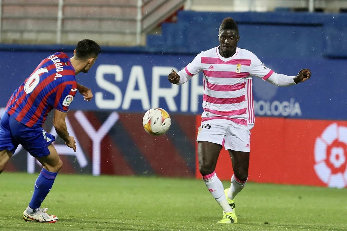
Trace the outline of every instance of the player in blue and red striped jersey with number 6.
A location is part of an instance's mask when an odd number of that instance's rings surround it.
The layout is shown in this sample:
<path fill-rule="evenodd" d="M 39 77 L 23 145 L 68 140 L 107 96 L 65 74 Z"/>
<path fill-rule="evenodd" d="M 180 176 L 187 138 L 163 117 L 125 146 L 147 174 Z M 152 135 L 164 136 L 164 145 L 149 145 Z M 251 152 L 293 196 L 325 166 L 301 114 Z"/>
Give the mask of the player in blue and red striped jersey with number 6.
<path fill-rule="evenodd" d="M 76 151 L 75 138 L 67 131 L 65 117 L 77 90 L 85 100 L 92 99 L 91 89 L 79 85 L 75 75 L 87 73 L 99 53 L 100 46 L 96 42 L 82 39 L 71 59 L 62 52 L 48 56 L 15 90 L 7 103 L 0 121 L 0 173 L 19 144 L 43 166 L 35 181 L 31 201 L 23 213 L 25 221 L 54 223 L 58 220 L 57 216 L 46 213 L 47 208 L 41 209 L 41 203 L 63 164 L 52 144 L 56 138 L 47 133 L 42 125 L 47 114 L 55 109 L 54 128 L 66 145 Z"/>

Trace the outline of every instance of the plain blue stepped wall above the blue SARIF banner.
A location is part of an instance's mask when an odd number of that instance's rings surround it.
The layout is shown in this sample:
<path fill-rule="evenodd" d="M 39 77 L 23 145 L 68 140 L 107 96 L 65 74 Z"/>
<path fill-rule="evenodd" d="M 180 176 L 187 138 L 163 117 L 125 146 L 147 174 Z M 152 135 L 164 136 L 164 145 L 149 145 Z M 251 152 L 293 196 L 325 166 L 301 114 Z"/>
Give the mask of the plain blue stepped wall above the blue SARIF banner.
<path fill-rule="evenodd" d="M 218 28 L 226 17 L 238 24 L 239 47 L 259 57 L 347 57 L 347 14 L 180 11 L 177 23 L 162 25 L 162 35 L 147 36 L 147 46 L 173 52 L 208 50 L 218 45 Z"/>

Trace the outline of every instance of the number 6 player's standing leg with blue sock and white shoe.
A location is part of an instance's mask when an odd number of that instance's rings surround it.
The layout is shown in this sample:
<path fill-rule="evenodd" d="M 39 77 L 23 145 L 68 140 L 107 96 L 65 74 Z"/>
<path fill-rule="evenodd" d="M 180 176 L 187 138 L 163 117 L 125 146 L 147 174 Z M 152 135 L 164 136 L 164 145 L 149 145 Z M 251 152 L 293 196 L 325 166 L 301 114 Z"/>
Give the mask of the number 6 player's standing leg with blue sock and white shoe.
<path fill-rule="evenodd" d="M 46 213 L 46 209 L 40 208 L 41 203 L 52 189 L 58 171 L 62 167 L 62 161 L 52 144 L 48 146 L 48 150 L 50 151 L 48 156 L 37 158 L 43 168 L 39 177 L 35 181 L 34 194 L 29 206 L 23 213 L 23 219 L 25 221 L 54 223 L 58 220 L 58 217 L 49 215 Z"/>

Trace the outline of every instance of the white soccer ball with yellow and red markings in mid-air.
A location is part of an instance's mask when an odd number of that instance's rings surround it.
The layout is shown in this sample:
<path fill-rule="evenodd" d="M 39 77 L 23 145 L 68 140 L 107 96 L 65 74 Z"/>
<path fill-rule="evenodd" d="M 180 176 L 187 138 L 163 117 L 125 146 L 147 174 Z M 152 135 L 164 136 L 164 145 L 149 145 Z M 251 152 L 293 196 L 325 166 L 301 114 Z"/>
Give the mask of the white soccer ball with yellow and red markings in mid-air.
<path fill-rule="evenodd" d="M 142 125 L 147 133 L 162 135 L 169 130 L 171 119 L 166 110 L 162 108 L 151 108 L 143 116 Z"/>

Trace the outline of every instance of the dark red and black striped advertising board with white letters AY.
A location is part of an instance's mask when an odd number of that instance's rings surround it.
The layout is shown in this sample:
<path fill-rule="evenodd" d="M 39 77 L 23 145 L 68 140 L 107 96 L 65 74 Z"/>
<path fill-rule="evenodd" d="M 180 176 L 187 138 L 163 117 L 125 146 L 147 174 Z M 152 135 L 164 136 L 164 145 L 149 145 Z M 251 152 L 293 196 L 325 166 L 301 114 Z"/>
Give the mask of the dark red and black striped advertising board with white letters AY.
<path fill-rule="evenodd" d="M 54 130 L 52 115 L 44 128 L 56 136 L 53 143 L 64 162 L 61 172 L 112 175 L 158 175 L 193 177 L 195 174 L 194 115 L 171 115 L 169 132 L 147 134 L 142 114 L 70 111 L 66 122 L 77 150 L 68 148 Z M 22 146 L 7 171 L 40 171 L 41 165 Z"/>

